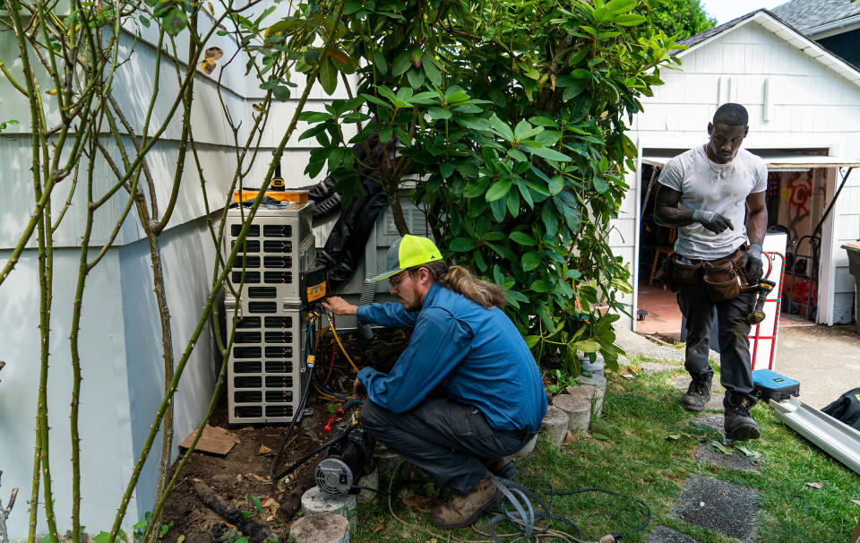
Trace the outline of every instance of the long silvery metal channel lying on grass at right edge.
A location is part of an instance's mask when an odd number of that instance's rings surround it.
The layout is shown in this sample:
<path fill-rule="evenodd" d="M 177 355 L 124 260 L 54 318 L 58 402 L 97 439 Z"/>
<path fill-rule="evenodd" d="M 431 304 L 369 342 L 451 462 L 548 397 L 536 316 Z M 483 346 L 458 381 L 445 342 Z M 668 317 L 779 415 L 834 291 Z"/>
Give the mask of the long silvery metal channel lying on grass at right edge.
<path fill-rule="evenodd" d="M 787 427 L 860 475 L 860 431 L 803 401 L 770 401 L 774 414 Z"/>

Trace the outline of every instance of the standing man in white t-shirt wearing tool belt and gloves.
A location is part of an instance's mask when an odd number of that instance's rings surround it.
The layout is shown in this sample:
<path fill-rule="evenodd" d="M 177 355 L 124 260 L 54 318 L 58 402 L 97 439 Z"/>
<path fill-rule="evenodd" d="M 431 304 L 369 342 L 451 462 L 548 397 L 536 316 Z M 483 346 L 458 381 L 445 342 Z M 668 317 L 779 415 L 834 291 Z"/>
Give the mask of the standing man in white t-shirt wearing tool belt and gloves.
<path fill-rule="evenodd" d="M 714 285 L 706 284 L 703 273 L 726 265 L 732 268 L 726 264 L 731 258 L 742 268 L 747 283 L 755 284 L 763 274 L 768 168 L 761 158 L 741 149 L 749 133 L 748 121 L 746 108 L 740 104 L 720 106 L 708 124 L 709 142 L 676 156 L 663 168 L 654 211 L 659 224 L 678 228 L 672 262 L 681 270 L 674 277 L 682 278 L 676 287 L 678 306 L 686 320 L 684 366 L 692 377 L 682 404 L 685 409 L 701 411 L 710 400 L 709 336 L 716 316 L 720 383 L 726 388 L 726 436 L 735 440 L 759 437 L 759 427 L 750 414 L 756 400 L 751 395 L 750 323 L 746 319 L 755 295 L 744 292 L 720 299 L 724 296 L 714 291 Z"/>

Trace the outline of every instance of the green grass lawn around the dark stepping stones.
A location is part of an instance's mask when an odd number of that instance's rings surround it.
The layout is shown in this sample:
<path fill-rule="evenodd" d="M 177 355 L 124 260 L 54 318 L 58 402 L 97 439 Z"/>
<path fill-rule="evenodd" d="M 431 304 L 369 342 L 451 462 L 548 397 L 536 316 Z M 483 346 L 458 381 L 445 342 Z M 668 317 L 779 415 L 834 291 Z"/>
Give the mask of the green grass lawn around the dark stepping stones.
<path fill-rule="evenodd" d="M 634 369 L 636 362 L 633 362 Z M 561 451 L 538 443 L 537 453 L 515 459 L 520 468 L 520 484 L 546 492 L 600 487 L 636 496 L 648 504 L 651 521 L 645 530 L 624 537 L 624 541 L 647 541 L 656 526 L 667 526 L 692 536 L 701 543 L 735 541 L 717 532 L 703 530 L 672 518 L 671 510 L 690 473 L 719 478 L 752 487 L 760 496 L 760 528 L 756 541 L 797 543 L 841 543 L 848 540 L 860 517 L 860 477 L 813 444 L 783 426 L 769 407 L 760 403 L 753 415 L 761 426 L 761 439 L 747 444 L 761 454 L 759 472 L 715 468 L 693 459 L 699 443 L 696 434 L 707 430 L 692 427 L 688 420 L 696 415 L 681 408 L 680 392 L 668 384 L 671 375 L 638 373 L 634 379 L 608 375 L 603 417 L 592 424 L 591 435 L 578 434 Z M 601 439 L 595 438 L 598 435 Z M 680 435 L 668 439 L 669 435 Z M 821 488 L 806 486 L 819 482 Z M 417 494 L 426 492 L 413 485 Z M 403 485 L 394 482 L 394 511 L 389 513 L 387 482 L 374 504 L 358 511 L 355 541 L 431 541 L 448 540 L 448 534 L 434 530 L 420 513 L 400 500 Z M 553 513 L 574 521 L 584 540 L 597 541 L 610 532 L 632 530 L 645 518 L 640 504 L 617 496 L 580 494 L 556 497 Z M 507 530 L 502 523 L 501 530 Z M 486 520 L 478 530 L 484 530 Z M 562 524 L 556 523 L 560 530 Z M 433 535 L 434 534 L 434 535 Z M 475 530 L 454 530 L 454 540 L 491 540 Z M 512 540 L 512 539 L 506 539 Z M 554 539 L 543 539 L 554 540 Z M 561 540 L 555 538 L 555 540 Z"/>

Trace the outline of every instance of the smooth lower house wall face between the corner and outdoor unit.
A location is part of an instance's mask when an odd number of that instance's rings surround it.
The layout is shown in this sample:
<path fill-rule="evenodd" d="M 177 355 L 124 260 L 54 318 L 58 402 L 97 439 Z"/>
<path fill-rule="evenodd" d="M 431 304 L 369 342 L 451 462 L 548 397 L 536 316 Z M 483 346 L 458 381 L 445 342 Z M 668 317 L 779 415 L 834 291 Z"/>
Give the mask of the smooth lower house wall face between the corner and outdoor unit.
<path fill-rule="evenodd" d="M 125 366 L 128 374 L 128 397 L 136 461 L 159 409 L 164 389 L 164 361 L 161 358 L 159 311 L 152 296 L 152 270 L 147 240 L 142 239 L 118 249 L 122 278 L 122 314 L 125 326 Z M 193 335 L 202 306 L 210 295 L 209 278 L 215 259 L 214 247 L 204 219 L 172 228 L 161 237 L 173 349 L 176 363 Z M 220 368 L 215 340 L 210 328 L 204 328 L 194 346 L 176 392 L 174 417 L 174 457 L 177 444 L 202 420 Z M 161 434 L 153 445 L 150 458 L 137 486 L 138 511 L 151 511 L 159 478 Z"/>

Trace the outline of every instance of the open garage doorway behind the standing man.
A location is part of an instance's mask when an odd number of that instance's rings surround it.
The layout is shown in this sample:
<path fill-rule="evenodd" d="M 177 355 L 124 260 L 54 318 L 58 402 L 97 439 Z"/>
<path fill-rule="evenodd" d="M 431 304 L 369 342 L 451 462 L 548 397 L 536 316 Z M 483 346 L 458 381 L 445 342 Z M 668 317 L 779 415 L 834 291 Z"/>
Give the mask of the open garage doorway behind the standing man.
<path fill-rule="evenodd" d="M 669 342 L 681 336 L 682 319 L 675 294 L 655 274 L 660 263 L 674 251 L 676 228 L 658 225 L 654 201 L 658 177 L 671 157 L 684 150 L 643 151 L 641 168 L 641 215 L 639 218 L 638 295 L 635 303 L 636 331 Z M 783 233 L 787 241 L 782 280 L 780 326 L 820 322 L 821 278 L 829 270 L 822 262 L 824 221 L 830 217 L 854 159 L 826 156 L 824 150 L 751 150 L 768 165 L 769 233 Z M 649 191 L 649 185 L 651 190 Z M 833 197 L 835 194 L 836 197 Z M 830 240 L 824 240 L 830 243 Z M 778 265 L 778 259 L 774 259 Z"/>

